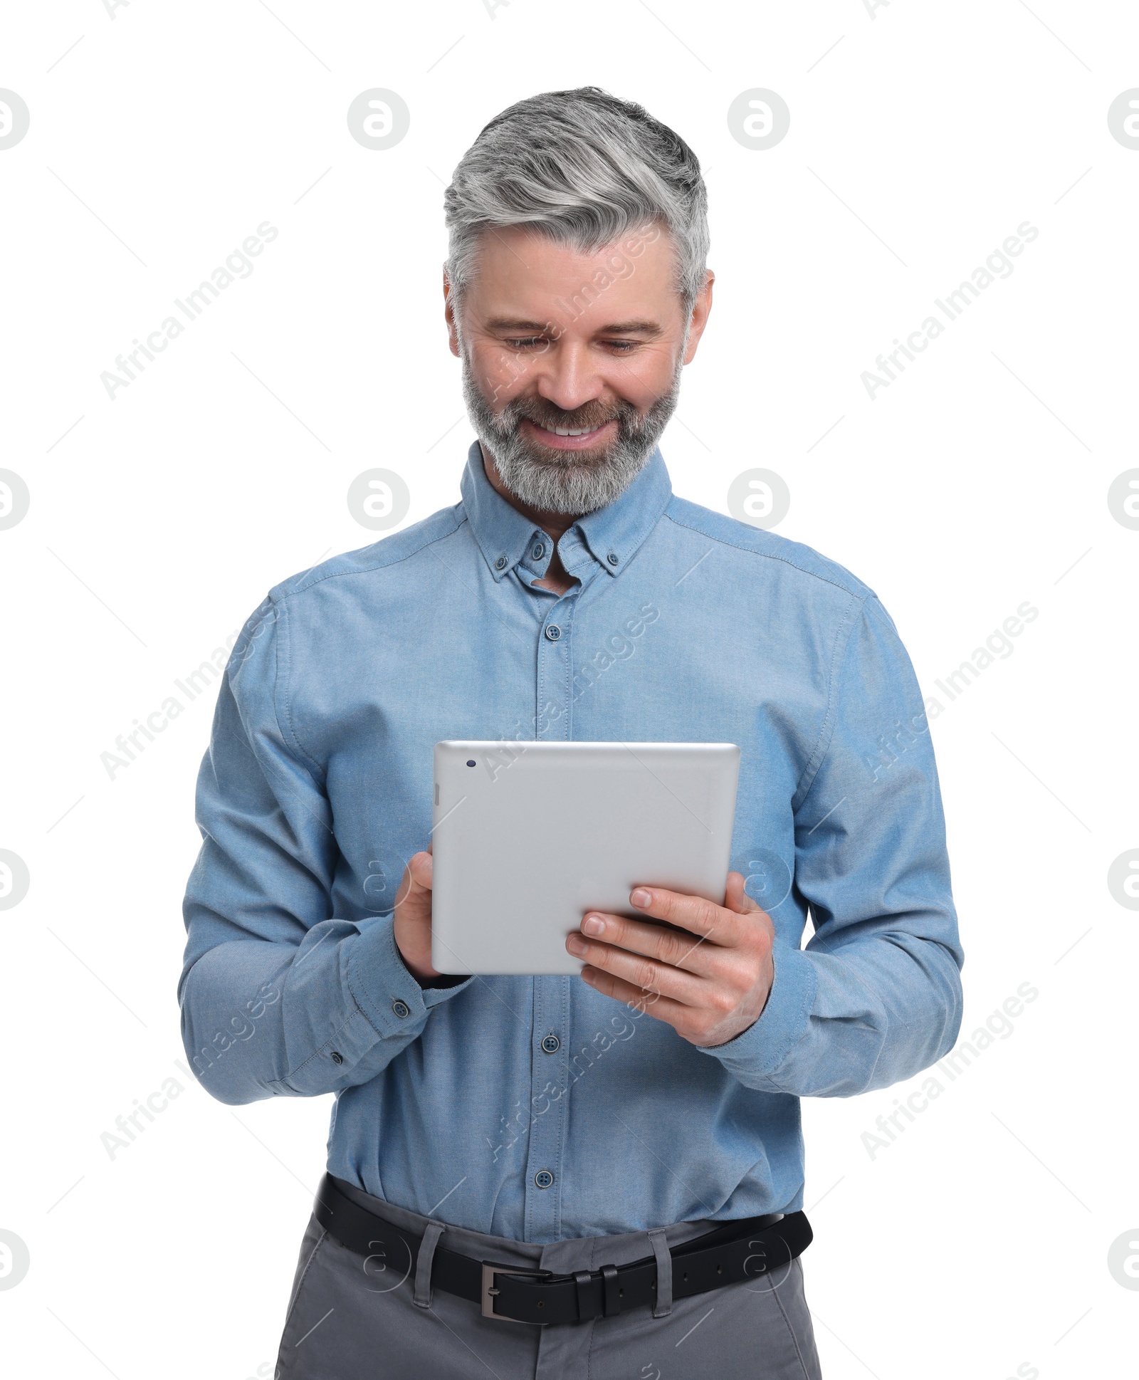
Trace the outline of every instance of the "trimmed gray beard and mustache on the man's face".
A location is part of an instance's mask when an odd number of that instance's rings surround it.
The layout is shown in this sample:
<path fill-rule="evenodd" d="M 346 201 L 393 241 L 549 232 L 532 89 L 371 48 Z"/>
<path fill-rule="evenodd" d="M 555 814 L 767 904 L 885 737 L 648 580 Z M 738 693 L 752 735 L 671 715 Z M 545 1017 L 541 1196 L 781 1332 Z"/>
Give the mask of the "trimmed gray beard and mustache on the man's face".
<path fill-rule="evenodd" d="M 579 518 L 611 504 L 644 469 L 676 411 L 683 360 L 681 349 L 667 393 L 658 397 L 644 417 L 625 402 L 604 417 L 596 407 L 593 415 L 578 417 L 541 397 L 516 397 L 501 413 L 494 413 L 474 381 L 463 351 L 463 400 L 474 433 L 494 457 L 495 468 L 510 493 L 541 512 Z M 586 411 L 589 407 L 578 408 L 578 413 Z M 523 418 L 543 426 L 572 428 L 596 426 L 615 418 L 618 435 L 607 448 L 556 451 L 532 446 L 520 431 Z"/>

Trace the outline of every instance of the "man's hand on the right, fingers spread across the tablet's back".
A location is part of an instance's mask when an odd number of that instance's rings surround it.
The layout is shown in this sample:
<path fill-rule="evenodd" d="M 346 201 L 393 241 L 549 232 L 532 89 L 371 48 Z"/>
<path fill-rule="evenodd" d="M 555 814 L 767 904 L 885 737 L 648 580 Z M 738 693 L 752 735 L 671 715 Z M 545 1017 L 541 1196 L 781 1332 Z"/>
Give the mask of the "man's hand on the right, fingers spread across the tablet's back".
<path fill-rule="evenodd" d="M 582 977 L 605 996 L 647 1010 L 692 1045 L 725 1045 L 763 1014 L 775 977 L 775 926 L 728 874 L 724 904 L 638 886 L 634 909 L 662 925 L 589 911 L 565 948 L 586 960 Z"/>

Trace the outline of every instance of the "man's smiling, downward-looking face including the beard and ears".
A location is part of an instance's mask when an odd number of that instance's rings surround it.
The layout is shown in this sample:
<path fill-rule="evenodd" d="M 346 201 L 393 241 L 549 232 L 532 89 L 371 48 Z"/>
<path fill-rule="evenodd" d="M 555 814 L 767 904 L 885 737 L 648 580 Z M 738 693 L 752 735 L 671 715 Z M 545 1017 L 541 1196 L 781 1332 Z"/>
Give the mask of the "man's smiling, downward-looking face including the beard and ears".
<path fill-rule="evenodd" d="M 552 513 L 603 508 L 640 472 L 696 353 L 712 275 L 685 319 L 656 226 L 594 254 L 525 229 L 484 232 L 451 351 L 505 486 Z"/>

